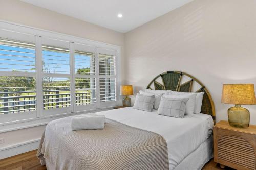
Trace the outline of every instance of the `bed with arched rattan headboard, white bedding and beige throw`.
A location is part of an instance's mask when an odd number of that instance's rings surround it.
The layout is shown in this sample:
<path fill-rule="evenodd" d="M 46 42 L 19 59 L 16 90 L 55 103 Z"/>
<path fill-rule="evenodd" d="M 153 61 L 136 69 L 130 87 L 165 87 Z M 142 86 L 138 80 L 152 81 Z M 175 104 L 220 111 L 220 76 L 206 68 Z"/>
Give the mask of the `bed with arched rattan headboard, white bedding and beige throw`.
<path fill-rule="evenodd" d="M 158 75 L 148 84 L 147 89 L 191 92 L 194 82 L 199 86 L 199 90 L 195 91 L 205 92 L 200 114 L 186 115 L 180 119 L 158 115 L 157 110 L 146 112 L 132 107 L 98 112 L 96 114 L 105 115 L 108 125 L 118 124 L 113 128 L 113 134 L 120 134 L 104 136 L 105 133 L 102 133 L 104 138 L 100 140 L 105 141 L 99 147 L 95 147 L 98 143 L 94 141 L 99 131 L 89 135 L 90 142 L 82 141 L 82 135 L 89 131 L 73 133 L 69 125 L 71 117 L 54 120 L 47 125 L 38 149 L 37 156 L 41 164 L 46 164 L 47 169 L 201 169 L 212 158 L 215 111 L 208 90 L 197 79 L 180 71 Z M 196 88 L 198 86 L 195 85 Z M 125 129 L 125 134 L 119 133 L 122 129 Z M 131 138 L 126 138 L 130 134 Z M 134 136 L 136 141 L 131 145 Z M 140 136 L 144 139 L 140 140 Z M 159 144 L 161 142 L 166 144 L 166 148 Z M 109 150 L 102 154 L 100 150 L 95 151 L 99 148 Z M 116 148 L 118 150 L 111 153 Z M 96 159 L 93 160 L 94 157 Z M 163 161 L 165 158 L 167 161 Z M 99 165 L 98 162 L 108 166 Z M 136 163 L 138 166 L 135 166 Z"/>

